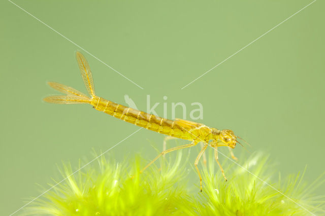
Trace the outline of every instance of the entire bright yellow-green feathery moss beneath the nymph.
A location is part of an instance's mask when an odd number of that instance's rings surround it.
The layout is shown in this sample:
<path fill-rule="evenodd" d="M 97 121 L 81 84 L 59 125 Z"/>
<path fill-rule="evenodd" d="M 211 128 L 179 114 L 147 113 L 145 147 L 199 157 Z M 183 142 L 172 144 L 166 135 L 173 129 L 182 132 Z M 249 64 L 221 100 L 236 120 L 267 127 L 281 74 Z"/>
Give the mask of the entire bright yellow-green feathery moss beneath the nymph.
<path fill-rule="evenodd" d="M 272 184 L 295 203 L 256 178 L 274 181 L 275 167 L 266 155 L 256 153 L 241 160 L 245 163 L 240 165 L 256 176 L 226 162 L 226 183 L 210 155 L 208 166 L 201 167 L 202 193 L 199 187 L 188 187 L 189 165 L 182 151 L 175 160 L 173 156 L 161 158 L 159 168 L 152 165 L 142 174 L 143 159 L 139 158 L 128 166 L 101 157 L 98 164 L 89 164 L 75 175 L 70 166 L 63 165 L 66 181 L 35 201 L 25 215 L 310 215 L 304 208 L 325 213 L 324 196 L 312 196 L 312 189 L 322 183 L 321 176 L 311 185 L 303 183 L 303 174 L 290 176 L 284 183 L 279 177 Z"/>

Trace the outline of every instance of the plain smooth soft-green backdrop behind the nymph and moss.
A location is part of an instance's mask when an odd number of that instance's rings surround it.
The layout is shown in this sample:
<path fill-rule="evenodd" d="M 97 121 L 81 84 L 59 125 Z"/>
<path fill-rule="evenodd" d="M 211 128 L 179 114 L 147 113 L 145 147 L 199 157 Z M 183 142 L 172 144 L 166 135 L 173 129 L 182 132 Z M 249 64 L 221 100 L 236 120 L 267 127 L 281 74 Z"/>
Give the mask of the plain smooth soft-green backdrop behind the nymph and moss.
<path fill-rule="evenodd" d="M 101 97 L 125 104 L 123 96 L 128 94 L 145 111 L 150 94 L 152 104 L 160 102 L 159 115 L 167 102 L 169 118 L 172 102 L 185 103 L 188 112 L 190 103 L 201 102 L 201 123 L 233 129 L 249 141 L 250 152 L 269 153 L 282 176 L 308 165 L 305 180 L 312 182 L 324 171 L 324 1 L 316 1 L 183 90 L 311 1 L 15 3 L 144 89 L 2 1 L 2 215 L 17 210 L 28 197 L 38 196 L 36 183 L 48 188 L 51 177 L 61 179 L 56 164 L 71 161 L 76 168 L 79 158 L 93 158 L 92 149 L 106 151 L 138 129 L 89 105 L 42 101 L 56 94 L 47 81 L 85 92 L 76 50 L 88 59 Z M 180 110 L 177 116 L 182 117 Z M 108 155 L 122 161 L 141 154 L 150 160 L 156 155 L 151 145 L 161 150 L 163 137 L 143 129 Z M 169 144 L 174 145 L 175 141 Z M 198 151 L 199 147 L 191 150 L 191 160 Z M 221 151 L 228 154 L 226 149 Z M 235 154 L 243 151 L 238 146 Z M 191 174 L 197 178 L 194 170 Z M 324 189 L 318 190 L 319 195 Z"/>

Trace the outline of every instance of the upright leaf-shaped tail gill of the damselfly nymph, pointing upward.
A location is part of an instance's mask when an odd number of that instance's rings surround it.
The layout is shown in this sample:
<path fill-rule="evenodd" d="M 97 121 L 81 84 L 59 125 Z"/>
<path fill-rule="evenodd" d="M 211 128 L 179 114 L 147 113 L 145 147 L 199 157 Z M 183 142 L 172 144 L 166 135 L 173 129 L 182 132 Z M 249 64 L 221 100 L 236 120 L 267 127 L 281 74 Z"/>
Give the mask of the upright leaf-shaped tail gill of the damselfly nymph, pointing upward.
<path fill-rule="evenodd" d="M 86 89 L 91 96 L 95 96 L 95 89 L 93 86 L 92 74 L 89 64 L 86 58 L 80 52 L 76 53 L 76 57 Z"/>

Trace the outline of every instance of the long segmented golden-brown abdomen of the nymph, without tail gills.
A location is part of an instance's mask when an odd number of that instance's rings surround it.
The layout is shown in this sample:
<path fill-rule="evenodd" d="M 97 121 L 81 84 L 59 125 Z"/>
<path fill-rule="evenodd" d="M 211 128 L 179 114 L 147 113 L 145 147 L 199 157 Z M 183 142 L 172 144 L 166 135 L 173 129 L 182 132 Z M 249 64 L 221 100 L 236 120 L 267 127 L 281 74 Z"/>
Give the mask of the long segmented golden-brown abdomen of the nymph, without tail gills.
<path fill-rule="evenodd" d="M 97 96 L 92 98 L 90 104 L 93 105 L 98 111 L 102 111 L 106 114 L 114 116 L 115 118 L 144 127 L 148 130 L 181 139 L 193 139 L 190 133 L 183 130 L 183 128 L 175 124 L 175 122 L 172 120 L 138 111 L 131 107 L 123 106 Z"/>

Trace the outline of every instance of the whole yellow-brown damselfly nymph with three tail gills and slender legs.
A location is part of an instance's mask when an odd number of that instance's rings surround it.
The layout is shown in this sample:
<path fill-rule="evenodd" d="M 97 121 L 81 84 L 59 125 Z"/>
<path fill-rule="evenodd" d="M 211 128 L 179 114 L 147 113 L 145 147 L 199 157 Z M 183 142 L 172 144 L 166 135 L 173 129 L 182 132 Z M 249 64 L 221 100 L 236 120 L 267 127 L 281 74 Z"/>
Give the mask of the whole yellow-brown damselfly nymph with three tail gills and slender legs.
<path fill-rule="evenodd" d="M 79 52 L 77 52 L 76 57 L 81 71 L 82 79 L 90 97 L 72 87 L 55 82 L 49 82 L 49 85 L 52 88 L 62 93 L 66 93 L 67 95 L 49 96 L 44 98 L 45 101 L 60 104 L 88 103 L 91 104 L 94 109 L 109 114 L 115 118 L 121 119 L 125 122 L 129 122 L 131 124 L 135 124 L 137 126 L 144 127 L 148 130 L 152 130 L 158 133 L 166 134 L 168 136 L 191 141 L 190 144 L 174 147 L 172 149 L 161 152 L 154 160 L 152 160 L 146 167 L 144 167 L 143 170 L 145 170 L 161 155 L 175 150 L 195 146 L 198 142 L 202 141 L 204 142 L 204 147 L 199 153 L 196 162 L 194 163 L 200 177 L 201 191 L 202 178 L 197 165 L 208 145 L 215 149 L 215 159 L 219 164 L 224 176 L 223 169 L 218 161 L 217 147 L 228 146 L 229 149 L 234 149 L 236 147 L 237 136 L 232 130 L 218 130 L 201 123 L 191 122 L 183 119 L 169 120 L 166 118 L 160 118 L 158 116 L 138 111 L 131 107 L 127 107 L 99 97 L 95 94 L 92 74 L 87 60 Z M 232 156 L 235 158 L 233 154 Z"/>

